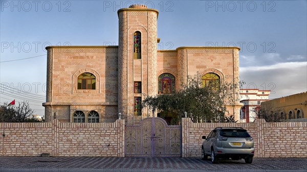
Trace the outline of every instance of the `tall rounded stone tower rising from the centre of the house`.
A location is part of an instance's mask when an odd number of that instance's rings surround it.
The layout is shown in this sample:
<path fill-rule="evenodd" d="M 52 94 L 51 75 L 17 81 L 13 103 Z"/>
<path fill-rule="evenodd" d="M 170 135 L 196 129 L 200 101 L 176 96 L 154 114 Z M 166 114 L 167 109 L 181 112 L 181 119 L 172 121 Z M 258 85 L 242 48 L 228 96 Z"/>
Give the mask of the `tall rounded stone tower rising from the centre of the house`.
<path fill-rule="evenodd" d="M 151 116 L 140 109 L 144 95 L 157 92 L 158 10 L 132 5 L 118 10 L 118 111 L 127 125 Z"/>

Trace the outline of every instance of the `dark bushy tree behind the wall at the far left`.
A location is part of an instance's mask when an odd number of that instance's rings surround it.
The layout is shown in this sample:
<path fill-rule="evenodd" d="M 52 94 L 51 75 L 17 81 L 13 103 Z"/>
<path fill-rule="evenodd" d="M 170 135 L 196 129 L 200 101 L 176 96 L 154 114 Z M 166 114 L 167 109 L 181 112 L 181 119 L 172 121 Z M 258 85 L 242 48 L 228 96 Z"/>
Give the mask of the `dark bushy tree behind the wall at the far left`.
<path fill-rule="evenodd" d="M 0 122 L 41 122 L 34 117 L 34 110 L 30 108 L 29 102 L 18 103 L 17 106 L 0 106 Z"/>

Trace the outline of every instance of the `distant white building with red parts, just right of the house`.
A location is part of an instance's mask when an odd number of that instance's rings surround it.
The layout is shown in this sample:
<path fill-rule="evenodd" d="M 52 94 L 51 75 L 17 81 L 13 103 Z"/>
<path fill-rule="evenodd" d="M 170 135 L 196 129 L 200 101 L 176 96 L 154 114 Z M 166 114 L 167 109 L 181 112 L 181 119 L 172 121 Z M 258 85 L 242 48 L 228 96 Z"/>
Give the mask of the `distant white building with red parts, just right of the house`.
<path fill-rule="evenodd" d="M 260 109 L 262 102 L 269 100 L 271 90 L 240 89 L 240 109 L 241 122 L 253 122 L 256 119 L 256 112 Z"/>

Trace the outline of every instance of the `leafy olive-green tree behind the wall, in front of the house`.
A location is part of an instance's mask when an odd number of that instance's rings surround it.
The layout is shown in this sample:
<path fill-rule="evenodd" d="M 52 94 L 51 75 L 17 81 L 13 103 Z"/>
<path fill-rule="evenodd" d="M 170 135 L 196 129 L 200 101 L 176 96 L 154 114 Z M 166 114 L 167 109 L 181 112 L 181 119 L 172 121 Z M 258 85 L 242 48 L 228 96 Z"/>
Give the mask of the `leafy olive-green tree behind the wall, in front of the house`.
<path fill-rule="evenodd" d="M 214 121 L 224 119 L 227 109 L 225 105 L 234 105 L 238 101 L 240 83 L 227 83 L 212 80 L 203 83 L 201 75 L 188 76 L 187 84 L 174 94 L 158 94 L 145 96 L 142 109 L 148 107 L 152 113 L 170 111 L 178 114 L 178 118 L 187 112 L 193 122 Z"/>

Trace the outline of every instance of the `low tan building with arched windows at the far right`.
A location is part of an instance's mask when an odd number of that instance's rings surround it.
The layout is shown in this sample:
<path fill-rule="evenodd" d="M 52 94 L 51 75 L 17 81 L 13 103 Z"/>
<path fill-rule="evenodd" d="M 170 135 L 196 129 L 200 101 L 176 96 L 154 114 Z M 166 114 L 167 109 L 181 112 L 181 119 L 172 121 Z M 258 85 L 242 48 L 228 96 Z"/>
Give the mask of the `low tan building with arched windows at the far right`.
<path fill-rule="evenodd" d="M 293 94 L 261 103 L 261 108 L 278 111 L 281 119 L 307 118 L 307 92 Z"/>

